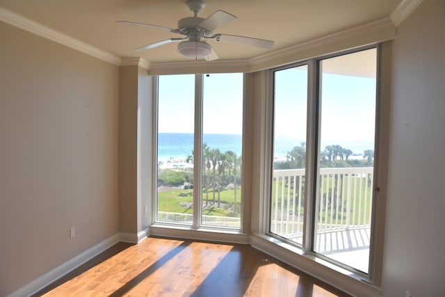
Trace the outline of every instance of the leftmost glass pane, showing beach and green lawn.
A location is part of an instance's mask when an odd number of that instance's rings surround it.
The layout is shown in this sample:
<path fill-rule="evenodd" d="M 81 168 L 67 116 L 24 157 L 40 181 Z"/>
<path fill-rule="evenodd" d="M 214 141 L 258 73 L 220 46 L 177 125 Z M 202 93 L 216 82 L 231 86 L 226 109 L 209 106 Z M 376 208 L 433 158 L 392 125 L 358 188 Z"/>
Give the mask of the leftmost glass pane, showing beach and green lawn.
<path fill-rule="evenodd" d="M 158 85 L 156 220 L 193 223 L 195 75 L 163 75 Z"/>

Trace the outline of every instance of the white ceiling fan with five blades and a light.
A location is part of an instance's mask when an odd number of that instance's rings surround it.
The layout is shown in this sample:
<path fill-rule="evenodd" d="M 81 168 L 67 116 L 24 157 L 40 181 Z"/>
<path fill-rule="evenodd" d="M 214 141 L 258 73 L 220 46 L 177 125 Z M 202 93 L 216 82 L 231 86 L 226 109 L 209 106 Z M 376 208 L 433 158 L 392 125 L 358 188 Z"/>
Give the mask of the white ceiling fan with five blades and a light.
<path fill-rule="evenodd" d="M 253 47 L 263 47 L 270 49 L 273 47 L 273 41 L 264 40 L 259 38 L 245 37 L 239 35 L 228 35 L 228 34 L 213 34 L 215 29 L 220 26 L 228 24 L 234 21 L 236 17 L 223 10 L 217 10 L 215 13 L 204 19 L 203 17 L 197 17 L 197 14 L 204 8 L 205 4 L 202 0 L 187 0 L 186 4 L 188 8 L 193 12 L 193 17 L 184 17 L 179 19 L 178 28 L 169 28 L 166 26 L 158 26 L 152 24 L 144 24 L 138 22 L 129 21 L 117 21 L 120 23 L 135 24 L 139 26 L 148 26 L 156 29 L 162 29 L 169 31 L 171 33 L 177 33 L 184 35 L 184 37 L 179 38 L 169 38 L 166 40 L 161 40 L 158 42 L 151 43 L 149 45 L 144 45 L 143 47 L 138 47 L 134 49 L 135 51 L 145 51 L 146 49 L 152 49 L 154 47 L 159 47 L 161 45 L 166 45 L 170 42 L 179 42 L 178 51 L 180 54 L 186 56 L 187 58 L 205 58 L 207 60 L 216 60 L 218 56 L 212 49 L 206 40 L 216 40 L 217 42 L 231 42 L 238 43 L 241 45 L 250 45 Z"/>

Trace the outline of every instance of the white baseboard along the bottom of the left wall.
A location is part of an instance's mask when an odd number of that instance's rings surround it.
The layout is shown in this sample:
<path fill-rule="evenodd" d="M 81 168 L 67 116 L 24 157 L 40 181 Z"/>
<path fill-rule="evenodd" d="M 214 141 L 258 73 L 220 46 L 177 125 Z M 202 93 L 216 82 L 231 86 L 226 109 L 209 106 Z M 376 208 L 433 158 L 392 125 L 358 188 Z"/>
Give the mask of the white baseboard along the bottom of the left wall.
<path fill-rule="evenodd" d="M 38 292 L 39 290 L 43 289 L 44 287 L 47 287 L 47 285 L 58 280 L 63 275 L 65 275 L 65 274 L 69 273 L 70 271 L 74 270 L 75 268 L 81 266 L 82 264 L 87 262 L 89 259 L 92 259 L 92 257 L 99 255 L 101 252 L 103 252 L 107 248 L 111 248 L 111 246 L 114 246 L 119 241 L 120 241 L 119 234 L 115 234 L 111 237 L 108 237 L 108 239 L 105 239 L 104 241 L 97 243 L 97 245 L 93 246 L 92 248 L 89 248 L 85 252 L 82 252 L 81 254 L 68 260 L 67 262 L 61 264 L 60 266 L 54 268 L 53 270 L 49 271 L 48 273 L 45 273 L 44 275 L 40 276 L 39 278 L 36 278 L 32 282 L 25 284 L 24 287 L 21 287 L 20 289 L 18 289 L 17 291 L 14 291 L 13 293 L 9 294 L 6 297 L 30 296 L 30 295 L 34 294 L 35 292 Z"/>

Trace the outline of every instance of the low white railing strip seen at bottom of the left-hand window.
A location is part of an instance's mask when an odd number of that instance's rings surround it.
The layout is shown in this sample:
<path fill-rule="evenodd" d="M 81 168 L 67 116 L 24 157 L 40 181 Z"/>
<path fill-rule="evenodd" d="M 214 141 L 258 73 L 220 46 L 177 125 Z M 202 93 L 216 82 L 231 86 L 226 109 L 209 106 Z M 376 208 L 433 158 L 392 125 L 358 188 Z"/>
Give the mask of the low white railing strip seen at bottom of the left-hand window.
<path fill-rule="evenodd" d="M 157 219 L 161 222 L 173 223 L 193 223 L 193 214 L 178 214 L 175 212 L 158 211 Z M 202 225 L 211 225 L 219 227 L 240 227 L 241 218 L 230 216 L 208 216 L 202 215 Z"/>

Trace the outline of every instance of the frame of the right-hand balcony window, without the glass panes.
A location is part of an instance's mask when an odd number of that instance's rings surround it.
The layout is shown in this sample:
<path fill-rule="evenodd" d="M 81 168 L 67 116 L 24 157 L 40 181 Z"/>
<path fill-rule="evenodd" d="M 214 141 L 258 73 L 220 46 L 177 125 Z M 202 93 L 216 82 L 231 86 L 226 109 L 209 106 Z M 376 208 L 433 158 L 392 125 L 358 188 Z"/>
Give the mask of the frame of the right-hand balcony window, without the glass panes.
<path fill-rule="evenodd" d="M 327 58 L 334 58 L 337 56 L 343 56 L 347 54 L 353 54 L 355 52 L 364 51 L 367 49 L 376 49 L 376 89 L 375 89 L 375 139 L 374 139 L 374 166 L 373 166 L 373 184 L 371 189 L 373 191 L 373 200 L 372 200 L 372 214 L 371 214 L 371 240 L 369 246 L 369 271 L 368 273 L 363 273 L 362 271 L 358 271 L 357 269 L 350 267 L 346 264 L 342 264 L 328 257 L 324 257 L 321 254 L 318 254 L 313 251 L 314 245 L 314 228 L 315 228 L 315 212 L 316 212 L 316 183 L 317 183 L 317 175 L 318 168 L 320 168 L 320 161 L 318 158 L 318 141 L 319 141 L 319 129 L 321 124 L 321 118 L 319 115 L 321 114 L 321 79 L 319 78 L 319 63 L 320 61 Z M 289 246 L 288 249 L 292 251 L 297 251 L 300 255 L 305 255 L 306 257 L 310 257 L 314 260 L 321 259 L 322 262 L 325 262 L 327 266 L 337 266 L 340 271 L 348 274 L 353 273 L 356 275 L 356 278 L 364 282 L 368 282 L 371 284 L 380 284 L 381 282 L 381 264 L 376 264 L 376 255 L 377 249 L 382 246 L 382 239 L 378 239 L 376 234 L 380 232 L 383 228 L 384 218 L 380 216 L 382 213 L 382 205 L 379 205 L 379 190 L 380 190 L 380 182 L 382 177 L 380 175 L 385 175 L 385 168 L 381 168 L 381 159 L 386 159 L 387 156 L 382 153 L 382 120 L 384 120 L 382 116 L 382 104 L 381 104 L 381 88 L 380 86 L 381 79 L 380 75 L 382 70 L 382 45 L 381 44 L 373 44 L 367 45 L 364 47 L 357 47 L 355 49 L 348 49 L 344 51 L 339 51 L 333 54 L 327 54 L 323 56 L 318 56 L 316 58 L 310 58 L 305 61 L 300 61 L 299 63 L 292 63 L 289 65 L 284 65 L 280 67 L 275 67 L 267 70 L 268 72 L 268 103 L 266 104 L 266 150 L 265 160 L 266 160 L 266 172 L 264 174 L 264 215 L 266 216 L 266 220 L 261 225 L 262 234 L 265 236 L 270 236 L 273 239 L 277 240 L 277 243 L 285 243 L 286 246 Z M 272 197 L 272 176 L 273 176 L 273 135 L 274 135 L 274 77 L 275 72 L 284 70 L 290 67 L 296 67 L 298 65 L 307 65 L 308 67 L 308 79 L 307 79 L 307 140 L 306 140 L 306 177 L 305 177 L 305 210 L 304 210 L 304 227 L 303 227 L 303 239 L 302 244 L 298 244 L 295 241 L 291 241 L 289 239 L 285 239 L 282 236 L 274 234 L 270 232 L 270 201 Z M 380 214 L 379 214 L 380 212 Z M 384 211 L 383 211 L 384 212 Z M 297 249 L 297 250 L 296 250 Z M 316 260 L 317 261 L 317 260 Z M 346 271 L 346 272 L 345 272 Z"/>

